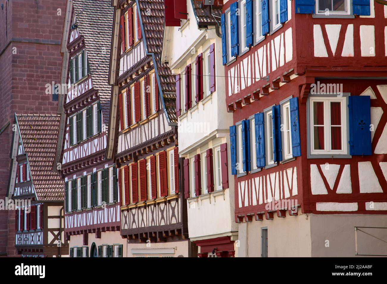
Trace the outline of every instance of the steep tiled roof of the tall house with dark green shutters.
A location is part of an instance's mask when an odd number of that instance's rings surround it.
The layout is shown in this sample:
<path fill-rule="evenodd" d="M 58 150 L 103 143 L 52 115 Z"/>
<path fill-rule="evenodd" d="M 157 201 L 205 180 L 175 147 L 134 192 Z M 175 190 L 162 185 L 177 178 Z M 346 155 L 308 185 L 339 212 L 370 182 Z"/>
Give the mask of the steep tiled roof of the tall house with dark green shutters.
<path fill-rule="evenodd" d="M 98 90 L 104 123 L 109 123 L 108 85 L 114 8 L 111 0 L 72 0 L 80 35 L 84 36 L 94 88 Z"/>

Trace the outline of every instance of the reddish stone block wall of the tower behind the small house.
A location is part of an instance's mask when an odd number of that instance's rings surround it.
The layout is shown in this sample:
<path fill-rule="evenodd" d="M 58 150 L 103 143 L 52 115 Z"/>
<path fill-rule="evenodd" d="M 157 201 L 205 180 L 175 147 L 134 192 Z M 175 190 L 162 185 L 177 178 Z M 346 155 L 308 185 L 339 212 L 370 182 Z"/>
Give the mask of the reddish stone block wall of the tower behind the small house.
<path fill-rule="evenodd" d="M 0 199 L 7 193 L 15 112 L 57 112 L 57 102 L 45 90 L 60 80 L 66 2 L 0 0 L 0 128 L 10 122 L 0 134 Z M 0 256 L 16 254 L 14 218 L 14 211 L 0 211 Z"/>

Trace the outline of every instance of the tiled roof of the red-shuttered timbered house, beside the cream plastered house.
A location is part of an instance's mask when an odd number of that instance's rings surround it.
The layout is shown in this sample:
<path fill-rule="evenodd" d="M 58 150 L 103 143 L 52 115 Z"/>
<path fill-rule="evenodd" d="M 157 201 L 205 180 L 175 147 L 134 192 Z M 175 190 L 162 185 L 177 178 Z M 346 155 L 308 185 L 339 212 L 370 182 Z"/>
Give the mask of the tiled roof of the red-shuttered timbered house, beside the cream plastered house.
<path fill-rule="evenodd" d="M 147 51 L 154 54 L 166 112 L 170 122 L 177 123 L 176 82 L 168 64 L 161 64 L 164 36 L 164 0 L 138 0 Z M 151 13 L 149 10 L 151 9 Z"/>

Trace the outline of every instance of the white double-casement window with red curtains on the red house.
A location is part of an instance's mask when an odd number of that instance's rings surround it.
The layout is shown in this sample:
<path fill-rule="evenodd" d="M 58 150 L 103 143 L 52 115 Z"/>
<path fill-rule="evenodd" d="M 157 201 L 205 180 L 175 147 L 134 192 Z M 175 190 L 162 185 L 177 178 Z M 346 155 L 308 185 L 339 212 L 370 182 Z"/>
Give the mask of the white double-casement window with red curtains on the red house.
<path fill-rule="evenodd" d="M 347 99 L 310 97 L 310 154 L 347 154 Z"/>

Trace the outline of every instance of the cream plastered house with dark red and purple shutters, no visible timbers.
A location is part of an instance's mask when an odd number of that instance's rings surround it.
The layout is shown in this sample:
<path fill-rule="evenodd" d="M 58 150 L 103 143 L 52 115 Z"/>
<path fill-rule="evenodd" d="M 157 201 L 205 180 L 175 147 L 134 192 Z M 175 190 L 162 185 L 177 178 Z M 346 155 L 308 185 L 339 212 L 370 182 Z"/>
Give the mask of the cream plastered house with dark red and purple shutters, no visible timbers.
<path fill-rule="evenodd" d="M 165 1 L 162 62 L 176 81 L 179 155 L 183 159 L 188 234 L 199 257 L 237 255 L 234 180 L 222 64 L 223 1 Z M 178 48 L 177 48 L 178 47 Z"/>

